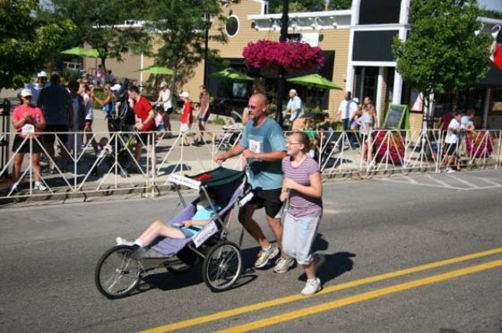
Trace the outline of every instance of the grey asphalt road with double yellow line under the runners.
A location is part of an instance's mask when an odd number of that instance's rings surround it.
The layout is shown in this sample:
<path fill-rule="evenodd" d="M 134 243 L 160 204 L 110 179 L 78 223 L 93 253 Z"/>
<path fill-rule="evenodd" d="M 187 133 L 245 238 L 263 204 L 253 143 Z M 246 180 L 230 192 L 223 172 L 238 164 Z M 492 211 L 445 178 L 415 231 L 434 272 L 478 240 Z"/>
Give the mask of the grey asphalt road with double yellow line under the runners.
<path fill-rule="evenodd" d="M 0 331 L 176 324 L 186 332 L 499 333 L 501 196 L 500 171 L 325 184 L 315 244 L 327 255 L 325 289 L 313 297 L 299 296 L 305 276 L 298 267 L 282 275 L 248 269 L 238 287 L 218 294 L 200 269 L 159 270 L 141 293 L 115 301 L 100 295 L 93 275 L 101 254 L 117 235 L 133 239 L 153 219 L 176 214 L 174 195 L 0 209 Z M 230 231 L 237 240 L 238 223 Z M 247 268 L 256 251 L 246 236 Z"/>

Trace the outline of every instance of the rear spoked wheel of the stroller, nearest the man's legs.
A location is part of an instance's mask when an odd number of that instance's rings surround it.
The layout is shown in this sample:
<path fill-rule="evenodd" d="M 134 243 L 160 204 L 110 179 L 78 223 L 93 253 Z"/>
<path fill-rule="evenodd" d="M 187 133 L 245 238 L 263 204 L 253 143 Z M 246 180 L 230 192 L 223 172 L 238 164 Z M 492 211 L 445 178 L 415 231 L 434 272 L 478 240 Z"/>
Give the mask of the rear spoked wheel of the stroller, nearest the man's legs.
<path fill-rule="evenodd" d="M 203 280 L 213 292 L 233 286 L 242 271 L 242 256 L 235 243 L 214 245 L 203 261 Z"/>

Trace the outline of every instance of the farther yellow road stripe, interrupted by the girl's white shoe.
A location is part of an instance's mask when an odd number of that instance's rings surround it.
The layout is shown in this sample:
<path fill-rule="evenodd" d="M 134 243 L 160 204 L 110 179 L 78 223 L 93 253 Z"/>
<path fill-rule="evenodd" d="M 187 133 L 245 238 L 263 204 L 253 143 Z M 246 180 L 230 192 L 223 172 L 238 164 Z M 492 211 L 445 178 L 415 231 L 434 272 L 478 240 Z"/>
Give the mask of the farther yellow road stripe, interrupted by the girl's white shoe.
<path fill-rule="evenodd" d="M 397 270 L 397 271 L 390 272 L 390 273 L 376 275 L 374 277 L 361 278 L 359 280 L 354 280 L 351 282 L 342 283 L 340 285 L 325 287 L 323 289 L 323 291 L 321 291 L 317 295 L 324 295 L 327 293 L 333 293 L 335 291 L 342 290 L 342 289 L 348 289 L 348 288 L 351 288 L 354 286 L 367 285 L 369 283 L 385 280 L 387 278 L 401 277 L 401 276 L 408 275 L 411 273 L 420 272 L 422 270 L 435 269 L 438 267 L 452 265 L 454 263 L 458 263 L 458 262 L 462 262 L 462 261 L 466 261 L 466 260 L 478 259 L 481 257 L 486 257 L 489 255 L 498 254 L 498 253 L 502 253 L 502 248 L 492 249 L 492 250 L 483 251 L 483 252 L 476 252 L 476 253 L 467 254 L 467 255 L 463 255 L 460 257 L 455 257 L 455 258 L 451 258 L 451 259 L 447 259 L 447 260 L 440 260 L 440 261 L 436 261 L 436 262 L 431 262 L 431 263 L 428 263 L 425 265 L 412 267 L 410 269 Z M 205 322 L 210 322 L 213 320 L 221 320 L 224 318 L 236 316 L 238 314 L 242 314 L 242 313 L 246 313 L 246 312 L 254 312 L 257 310 L 262 310 L 265 308 L 269 308 L 269 307 L 273 307 L 273 306 L 277 306 L 277 305 L 281 305 L 281 304 L 285 304 L 285 303 L 295 302 L 295 301 L 299 301 L 302 299 L 305 299 L 305 296 L 299 295 L 299 294 L 285 296 L 285 297 L 276 298 L 276 299 L 273 299 L 270 301 L 265 301 L 262 303 L 254 303 L 254 304 L 241 306 L 241 307 L 238 307 L 238 308 L 235 308 L 232 310 L 228 310 L 228 311 L 208 314 L 208 315 L 197 317 L 194 319 L 181 320 L 181 321 L 174 322 L 172 324 L 163 325 L 163 326 L 153 328 L 153 329 L 146 329 L 146 330 L 143 330 L 142 333 L 147 333 L 147 332 L 148 333 L 160 333 L 160 332 L 167 332 L 167 331 L 171 331 L 171 330 L 175 330 L 175 329 L 186 329 L 186 328 L 189 328 L 189 327 L 192 327 L 195 325 L 203 324 Z"/>

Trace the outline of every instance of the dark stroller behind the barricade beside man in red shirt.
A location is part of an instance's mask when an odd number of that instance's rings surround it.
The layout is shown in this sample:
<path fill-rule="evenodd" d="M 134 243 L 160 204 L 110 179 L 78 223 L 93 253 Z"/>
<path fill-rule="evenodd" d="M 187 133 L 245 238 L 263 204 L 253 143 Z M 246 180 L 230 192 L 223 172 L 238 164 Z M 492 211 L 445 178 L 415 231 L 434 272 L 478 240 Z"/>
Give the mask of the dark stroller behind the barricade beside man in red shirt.
<path fill-rule="evenodd" d="M 96 160 L 90 166 L 91 175 L 100 175 L 99 168 L 104 162 L 107 166 L 107 174 L 117 166 L 117 172 L 121 176 L 127 177 L 134 168 L 134 158 L 131 150 L 134 143 L 134 135 L 125 132 L 115 132 L 109 140 L 108 138 L 101 138 Z"/>

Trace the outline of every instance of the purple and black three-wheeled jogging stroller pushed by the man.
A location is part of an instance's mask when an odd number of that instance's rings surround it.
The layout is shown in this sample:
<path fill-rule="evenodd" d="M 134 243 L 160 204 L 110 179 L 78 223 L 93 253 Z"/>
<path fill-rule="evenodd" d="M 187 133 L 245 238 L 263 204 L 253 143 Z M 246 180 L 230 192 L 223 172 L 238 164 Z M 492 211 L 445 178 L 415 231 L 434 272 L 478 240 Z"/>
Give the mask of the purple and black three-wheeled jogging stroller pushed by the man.
<path fill-rule="evenodd" d="M 240 277 L 242 256 L 238 245 L 227 240 L 232 210 L 244 192 L 246 176 L 242 171 L 218 167 L 209 172 L 190 177 L 170 175 L 169 181 L 175 184 L 177 194 L 185 207 L 168 223 L 178 226 L 195 214 L 197 200 L 186 205 L 180 186 L 187 186 L 205 194 L 213 217 L 209 223 L 192 237 L 172 239 L 158 237 L 149 248 L 160 257 L 139 257 L 137 252 L 143 248 L 117 245 L 105 252 L 95 271 L 95 282 L 100 293 L 108 298 L 120 298 L 131 294 L 143 274 L 152 269 L 165 268 L 180 273 L 191 269 L 198 259 L 203 259 L 203 281 L 213 292 L 229 289 Z M 211 190 L 221 210 L 215 209 L 208 191 Z"/>

